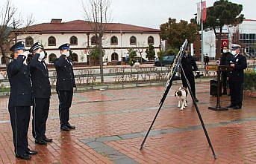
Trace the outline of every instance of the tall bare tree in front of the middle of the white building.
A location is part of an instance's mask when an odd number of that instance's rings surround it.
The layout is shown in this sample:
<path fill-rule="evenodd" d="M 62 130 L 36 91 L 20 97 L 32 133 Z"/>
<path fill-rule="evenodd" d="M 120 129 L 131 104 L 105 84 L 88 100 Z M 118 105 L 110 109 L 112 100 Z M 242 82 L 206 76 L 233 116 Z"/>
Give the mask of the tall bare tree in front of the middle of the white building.
<path fill-rule="evenodd" d="M 101 82 L 104 82 L 103 77 L 103 56 L 102 56 L 102 40 L 104 33 L 107 30 L 107 23 L 110 22 L 110 0 L 84 0 L 83 3 L 85 17 L 90 24 L 96 43 L 99 46 L 99 65 Z"/>

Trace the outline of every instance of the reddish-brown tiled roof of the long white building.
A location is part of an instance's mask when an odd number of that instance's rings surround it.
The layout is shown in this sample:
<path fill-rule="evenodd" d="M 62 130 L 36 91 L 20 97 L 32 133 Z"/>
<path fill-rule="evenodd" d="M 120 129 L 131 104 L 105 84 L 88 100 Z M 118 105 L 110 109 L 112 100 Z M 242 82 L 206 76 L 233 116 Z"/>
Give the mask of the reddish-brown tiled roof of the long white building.
<path fill-rule="evenodd" d="M 35 24 L 28 29 L 28 33 L 86 33 L 92 31 L 90 22 L 83 20 Z M 107 23 L 106 31 L 108 33 L 120 33 L 120 31 L 123 33 L 160 33 L 158 29 L 121 23 Z"/>

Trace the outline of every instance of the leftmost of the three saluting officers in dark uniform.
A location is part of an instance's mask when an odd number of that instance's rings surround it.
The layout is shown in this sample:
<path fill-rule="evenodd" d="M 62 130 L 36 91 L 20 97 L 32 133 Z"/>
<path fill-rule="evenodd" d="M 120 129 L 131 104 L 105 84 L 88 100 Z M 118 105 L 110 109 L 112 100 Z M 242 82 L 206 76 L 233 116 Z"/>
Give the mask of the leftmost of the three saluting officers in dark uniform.
<path fill-rule="evenodd" d="M 37 151 L 28 148 L 28 126 L 31 114 L 31 81 L 26 64 L 28 52 L 25 52 L 23 42 L 17 42 L 10 47 L 13 51 L 13 61 L 7 66 L 10 82 L 9 113 L 13 129 L 13 144 L 17 158 L 30 160 Z"/>

